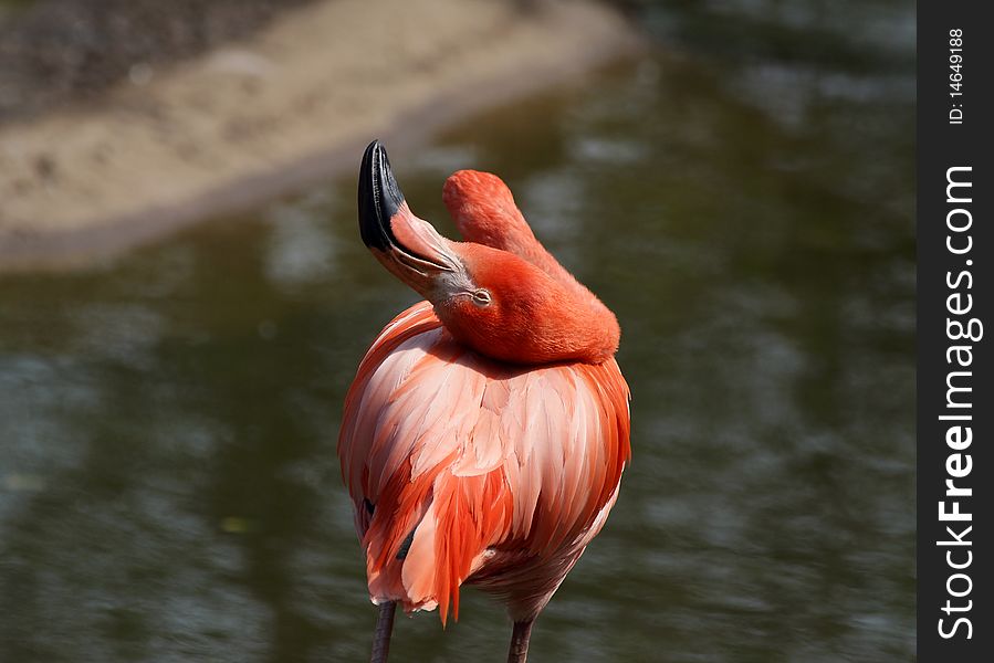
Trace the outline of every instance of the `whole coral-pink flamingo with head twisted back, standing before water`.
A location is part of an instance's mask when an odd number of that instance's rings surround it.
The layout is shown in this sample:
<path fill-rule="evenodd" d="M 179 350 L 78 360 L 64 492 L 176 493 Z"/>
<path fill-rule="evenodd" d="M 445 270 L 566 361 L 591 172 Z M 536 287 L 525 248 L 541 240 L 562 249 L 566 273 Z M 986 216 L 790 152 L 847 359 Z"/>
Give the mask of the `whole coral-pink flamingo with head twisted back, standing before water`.
<path fill-rule="evenodd" d="M 629 391 L 615 315 L 535 239 L 506 185 L 461 170 L 443 201 L 464 242 L 415 217 L 384 146 L 359 170 L 363 241 L 426 301 L 390 322 L 346 398 L 338 459 L 379 606 L 459 617 L 473 585 L 506 606 L 510 663 L 618 497 Z"/>

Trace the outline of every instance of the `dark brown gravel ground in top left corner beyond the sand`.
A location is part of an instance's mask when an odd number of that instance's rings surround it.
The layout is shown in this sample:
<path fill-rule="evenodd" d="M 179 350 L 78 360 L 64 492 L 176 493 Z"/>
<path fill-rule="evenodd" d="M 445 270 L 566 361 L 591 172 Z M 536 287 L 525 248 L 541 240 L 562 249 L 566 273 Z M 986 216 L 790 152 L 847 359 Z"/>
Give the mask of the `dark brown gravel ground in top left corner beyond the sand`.
<path fill-rule="evenodd" d="M 96 98 L 311 0 L 0 0 L 0 122 Z"/>

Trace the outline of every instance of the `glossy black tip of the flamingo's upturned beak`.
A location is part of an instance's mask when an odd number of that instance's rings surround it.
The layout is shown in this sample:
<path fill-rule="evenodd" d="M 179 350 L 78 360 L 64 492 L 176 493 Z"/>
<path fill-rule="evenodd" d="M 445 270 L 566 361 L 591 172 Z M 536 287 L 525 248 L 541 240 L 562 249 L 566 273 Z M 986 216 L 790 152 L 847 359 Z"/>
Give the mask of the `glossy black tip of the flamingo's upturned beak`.
<path fill-rule="evenodd" d="M 387 150 L 379 140 L 366 147 L 359 167 L 359 233 L 370 249 L 386 251 L 396 245 L 390 219 L 404 204 L 404 193 L 394 179 Z"/>

